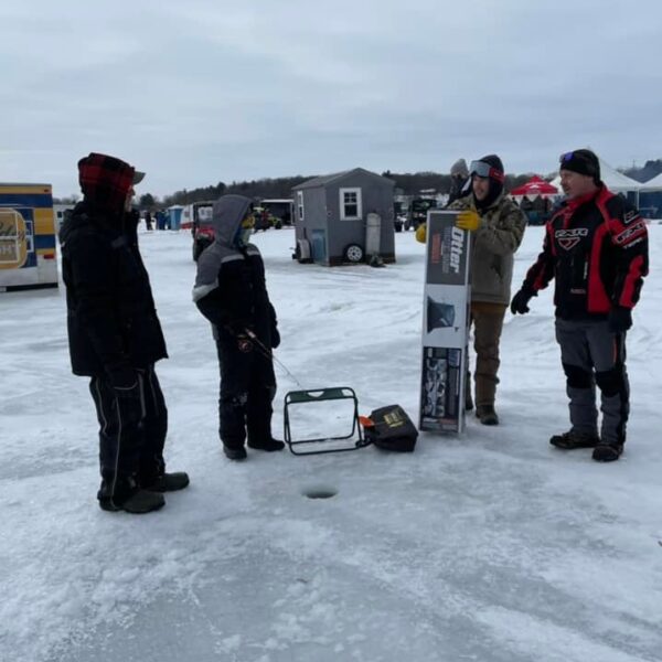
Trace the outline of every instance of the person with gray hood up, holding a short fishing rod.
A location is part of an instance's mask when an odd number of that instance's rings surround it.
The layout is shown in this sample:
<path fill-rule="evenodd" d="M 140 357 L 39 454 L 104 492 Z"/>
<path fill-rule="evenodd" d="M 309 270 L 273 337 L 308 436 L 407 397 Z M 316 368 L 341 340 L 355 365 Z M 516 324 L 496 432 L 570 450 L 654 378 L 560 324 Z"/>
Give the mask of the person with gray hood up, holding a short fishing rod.
<path fill-rule="evenodd" d="M 223 450 L 231 460 L 243 460 L 246 436 L 249 448 L 285 448 L 271 437 L 276 395 L 271 350 L 280 335 L 261 256 L 248 243 L 255 226 L 250 200 L 223 195 L 214 203 L 212 224 L 215 239 L 197 260 L 193 301 L 212 322 L 216 341 Z"/>

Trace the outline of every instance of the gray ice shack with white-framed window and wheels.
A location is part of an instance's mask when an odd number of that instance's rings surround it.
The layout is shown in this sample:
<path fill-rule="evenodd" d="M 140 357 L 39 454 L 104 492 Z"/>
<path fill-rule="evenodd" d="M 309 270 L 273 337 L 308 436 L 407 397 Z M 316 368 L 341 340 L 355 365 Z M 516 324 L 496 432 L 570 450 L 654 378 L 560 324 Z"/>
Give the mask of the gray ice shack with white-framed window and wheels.
<path fill-rule="evenodd" d="M 292 189 L 299 261 L 334 266 L 395 261 L 395 182 L 363 168 L 316 177 Z"/>

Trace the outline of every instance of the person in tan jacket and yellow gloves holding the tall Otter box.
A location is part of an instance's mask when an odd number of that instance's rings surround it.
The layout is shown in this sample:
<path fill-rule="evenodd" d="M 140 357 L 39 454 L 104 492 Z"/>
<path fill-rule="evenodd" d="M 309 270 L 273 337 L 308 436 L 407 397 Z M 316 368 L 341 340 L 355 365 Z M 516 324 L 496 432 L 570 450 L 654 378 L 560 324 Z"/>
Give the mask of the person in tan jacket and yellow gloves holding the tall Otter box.
<path fill-rule="evenodd" d="M 447 209 L 458 210 L 457 226 L 472 233 L 471 323 L 476 351 L 476 415 L 483 425 L 498 425 L 494 409 L 499 384 L 499 343 L 510 303 L 513 255 L 526 227 L 524 213 L 505 196 L 501 159 L 489 154 L 469 167 L 471 193 Z M 425 226 L 416 238 L 425 242 Z M 467 409 L 473 408 L 467 380 Z"/>

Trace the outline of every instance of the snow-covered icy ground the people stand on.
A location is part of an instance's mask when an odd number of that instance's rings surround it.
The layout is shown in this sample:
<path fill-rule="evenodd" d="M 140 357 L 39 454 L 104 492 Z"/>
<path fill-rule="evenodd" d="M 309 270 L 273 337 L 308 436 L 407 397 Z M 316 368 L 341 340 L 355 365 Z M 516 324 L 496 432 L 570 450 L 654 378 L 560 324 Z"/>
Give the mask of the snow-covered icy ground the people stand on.
<path fill-rule="evenodd" d="M 499 427 L 470 418 L 463 437 L 421 435 L 408 456 L 231 463 L 190 235 L 141 234 L 171 356 L 158 367 L 167 459 L 192 480 L 146 516 L 97 508 L 95 415 L 70 373 L 63 288 L 0 295 L 0 659 L 660 660 L 662 227 L 650 229 L 629 442 L 611 465 L 547 442 L 568 425 L 548 291 L 528 316 L 508 313 Z M 362 413 L 398 403 L 416 419 L 424 247 L 396 239 L 384 269 L 299 265 L 291 229 L 255 243 L 291 373 L 309 388 L 352 386 Z M 528 228 L 515 284 L 541 243 Z M 277 374 L 280 435 L 297 384 Z M 319 489 L 337 495 L 305 495 Z"/>

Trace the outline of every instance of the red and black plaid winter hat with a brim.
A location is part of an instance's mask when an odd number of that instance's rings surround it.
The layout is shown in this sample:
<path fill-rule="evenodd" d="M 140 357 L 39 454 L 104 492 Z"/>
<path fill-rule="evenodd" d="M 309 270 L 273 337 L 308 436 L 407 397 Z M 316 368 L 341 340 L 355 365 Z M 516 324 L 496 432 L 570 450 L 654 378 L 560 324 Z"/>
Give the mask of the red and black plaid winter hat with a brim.
<path fill-rule="evenodd" d="M 85 199 L 111 211 L 124 206 L 129 191 L 143 177 L 143 172 L 107 154 L 90 152 L 78 161 L 78 182 Z"/>

